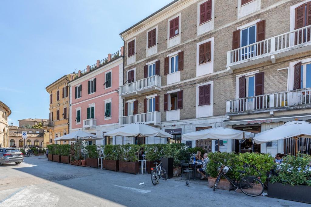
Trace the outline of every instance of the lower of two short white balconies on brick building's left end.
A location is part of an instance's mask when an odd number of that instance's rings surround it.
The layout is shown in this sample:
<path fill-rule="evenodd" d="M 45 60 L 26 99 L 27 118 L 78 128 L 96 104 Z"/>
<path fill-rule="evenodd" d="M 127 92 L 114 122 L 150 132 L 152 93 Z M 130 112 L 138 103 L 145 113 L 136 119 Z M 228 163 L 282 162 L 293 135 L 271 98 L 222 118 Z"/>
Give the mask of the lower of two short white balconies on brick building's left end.
<path fill-rule="evenodd" d="M 120 117 L 120 126 L 127 124 L 142 123 L 150 125 L 161 125 L 161 113 L 159 111 L 153 111 L 143 114 L 135 114 L 129 116 Z"/>

